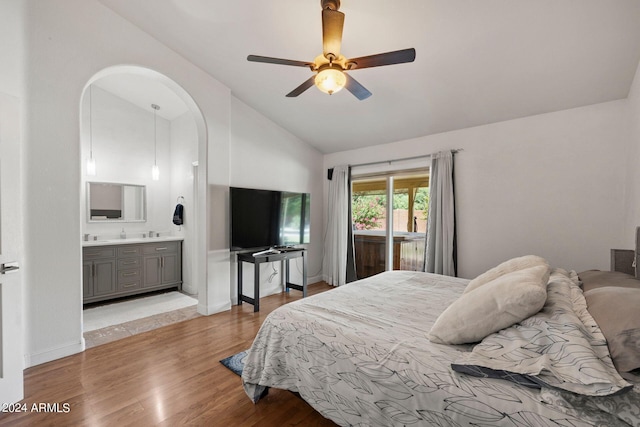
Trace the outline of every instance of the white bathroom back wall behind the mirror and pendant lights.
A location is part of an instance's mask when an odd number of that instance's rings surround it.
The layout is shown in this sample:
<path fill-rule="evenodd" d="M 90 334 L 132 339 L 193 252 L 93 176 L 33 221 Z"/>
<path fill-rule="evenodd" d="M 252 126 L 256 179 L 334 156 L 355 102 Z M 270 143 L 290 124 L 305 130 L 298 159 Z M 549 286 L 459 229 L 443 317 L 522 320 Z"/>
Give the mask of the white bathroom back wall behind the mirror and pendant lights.
<path fill-rule="evenodd" d="M 142 233 L 150 230 L 160 232 L 162 235 L 172 234 L 171 214 L 175 193 L 167 191 L 173 183 L 173 163 L 176 163 L 171 150 L 172 123 L 160 116 L 157 117 L 157 159 L 160 179 L 153 181 L 151 166 L 154 162 L 154 125 L 151 107 L 145 111 L 95 85 L 92 91 L 93 128 L 91 133 L 93 133 L 96 175 L 87 176 L 83 169 L 81 176 L 80 206 L 84 208 L 81 209 L 80 217 L 82 234 L 115 238 L 120 235 L 123 228 L 128 237 L 140 237 Z M 85 168 L 90 145 L 88 92 L 84 96 L 83 104 L 81 159 L 82 167 Z M 87 181 L 146 186 L 147 221 L 88 223 L 86 221 Z"/>

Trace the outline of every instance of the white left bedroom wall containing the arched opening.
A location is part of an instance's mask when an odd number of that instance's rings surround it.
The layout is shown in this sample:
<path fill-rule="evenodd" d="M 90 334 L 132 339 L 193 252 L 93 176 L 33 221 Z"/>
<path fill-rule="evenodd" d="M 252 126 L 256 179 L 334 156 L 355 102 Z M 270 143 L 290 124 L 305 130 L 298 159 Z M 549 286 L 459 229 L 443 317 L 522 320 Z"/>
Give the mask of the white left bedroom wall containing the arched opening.
<path fill-rule="evenodd" d="M 26 7 L 28 34 L 25 88 L 14 91 L 22 94 L 25 105 L 27 366 L 83 349 L 80 194 L 86 159 L 80 149 L 80 100 L 85 85 L 94 76 L 99 78 L 107 72 L 104 70 L 122 65 L 154 70 L 193 98 L 182 97 L 196 117 L 198 203 L 206 209 L 202 215 L 198 211 L 196 219 L 202 220 L 201 229 L 206 232 L 195 236 L 195 256 L 204 266 L 194 274 L 201 313 L 228 309 L 232 301 L 233 267 L 228 245 L 232 170 L 237 185 L 287 184 L 294 191 L 310 191 L 312 221 L 322 222 L 322 184 L 314 181 L 322 161 L 318 152 L 244 107 L 231 97 L 228 88 L 202 69 L 100 3 L 25 0 L 22 4 Z M 4 13 L 4 3 L 2 9 Z M 240 153 L 236 150 L 233 160 L 232 139 L 234 144 L 240 144 Z M 251 144 L 271 154 L 249 150 L 245 157 L 245 147 Z M 100 168 L 100 159 L 95 157 Z M 245 160 L 253 166 L 245 167 Z M 257 164 L 259 167 L 255 167 Z M 274 166 L 282 167 L 273 169 Z M 161 165 L 164 167 L 168 165 Z M 174 201 L 172 195 L 171 205 Z M 314 228 L 312 273 L 320 267 L 321 235 L 322 229 Z"/>

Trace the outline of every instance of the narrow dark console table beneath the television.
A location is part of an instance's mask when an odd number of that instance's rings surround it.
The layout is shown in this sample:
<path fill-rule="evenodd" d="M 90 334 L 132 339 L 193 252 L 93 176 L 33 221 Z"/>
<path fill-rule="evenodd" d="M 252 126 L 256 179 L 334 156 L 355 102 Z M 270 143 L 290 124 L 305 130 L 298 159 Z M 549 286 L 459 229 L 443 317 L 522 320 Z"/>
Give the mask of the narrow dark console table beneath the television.
<path fill-rule="evenodd" d="M 302 285 L 296 285 L 289 281 L 289 261 L 294 258 L 302 258 Z M 307 296 L 307 250 L 289 249 L 279 253 L 266 253 L 253 255 L 252 253 L 238 254 L 238 305 L 242 302 L 253 304 L 253 311 L 260 311 L 260 264 L 265 262 L 281 261 L 285 270 L 285 292 L 295 289 L 302 292 L 302 297 Z M 253 298 L 242 293 L 242 264 L 248 262 L 255 265 L 253 273 Z"/>

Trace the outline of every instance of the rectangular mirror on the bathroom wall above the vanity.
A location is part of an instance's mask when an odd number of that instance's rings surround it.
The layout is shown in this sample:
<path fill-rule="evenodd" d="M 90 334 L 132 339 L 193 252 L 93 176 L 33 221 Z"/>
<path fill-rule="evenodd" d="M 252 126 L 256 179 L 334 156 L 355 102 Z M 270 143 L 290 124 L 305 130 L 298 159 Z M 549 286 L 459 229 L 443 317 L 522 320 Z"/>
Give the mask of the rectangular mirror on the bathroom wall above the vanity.
<path fill-rule="evenodd" d="M 144 185 L 87 182 L 88 222 L 144 222 L 146 207 Z"/>

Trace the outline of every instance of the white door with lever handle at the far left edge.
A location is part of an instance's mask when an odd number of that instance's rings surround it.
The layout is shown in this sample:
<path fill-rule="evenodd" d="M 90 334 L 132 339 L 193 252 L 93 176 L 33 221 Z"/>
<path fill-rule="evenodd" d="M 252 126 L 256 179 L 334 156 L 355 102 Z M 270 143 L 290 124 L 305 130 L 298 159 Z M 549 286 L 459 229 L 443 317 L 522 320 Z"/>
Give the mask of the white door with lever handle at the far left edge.
<path fill-rule="evenodd" d="M 19 112 L 18 99 L 0 93 L 0 405 L 24 397 Z"/>

